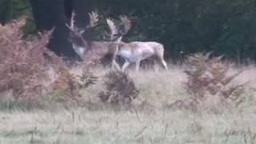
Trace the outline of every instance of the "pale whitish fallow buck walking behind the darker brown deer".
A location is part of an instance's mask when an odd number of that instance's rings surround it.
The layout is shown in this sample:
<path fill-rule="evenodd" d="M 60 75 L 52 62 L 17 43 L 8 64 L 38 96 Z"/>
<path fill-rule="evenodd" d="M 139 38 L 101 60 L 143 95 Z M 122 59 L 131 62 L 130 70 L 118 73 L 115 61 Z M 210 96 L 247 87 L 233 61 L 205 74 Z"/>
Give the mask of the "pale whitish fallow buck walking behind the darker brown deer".
<path fill-rule="evenodd" d="M 167 70 L 167 64 L 164 59 L 164 46 L 158 42 L 122 42 L 122 36 L 127 34 L 130 30 L 131 22 L 126 16 L 120 17 L 123 30 L 118 30 L 114 25 L 109 25 L 114 35 L 118 38 L 118 55 L 125 59 L 125 63 L 122 65 L 122 71 L 125 71 L 130 63 L 136 64 L 136 71 L 139 69 L 140 62 L 146 58 L 155 56 L 160 60 L 162 66 Z"/>

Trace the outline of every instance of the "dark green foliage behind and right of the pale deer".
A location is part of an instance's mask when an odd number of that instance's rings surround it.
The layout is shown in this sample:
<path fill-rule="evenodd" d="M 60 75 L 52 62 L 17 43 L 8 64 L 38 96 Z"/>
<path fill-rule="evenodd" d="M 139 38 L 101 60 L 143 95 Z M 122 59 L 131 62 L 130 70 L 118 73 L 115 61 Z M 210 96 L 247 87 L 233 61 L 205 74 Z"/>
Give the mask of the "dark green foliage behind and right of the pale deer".
<path fill-rule="evenodd" d="M 85 0 L 89 2 L 89 0 Z M 255 0 L 141 0 L 93 2 L 106 17 L 126 14 L 132 29 L 124 41 L 158 41 L 170 58 L 199 51 L 255 60 Z"/>

